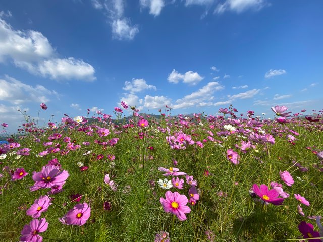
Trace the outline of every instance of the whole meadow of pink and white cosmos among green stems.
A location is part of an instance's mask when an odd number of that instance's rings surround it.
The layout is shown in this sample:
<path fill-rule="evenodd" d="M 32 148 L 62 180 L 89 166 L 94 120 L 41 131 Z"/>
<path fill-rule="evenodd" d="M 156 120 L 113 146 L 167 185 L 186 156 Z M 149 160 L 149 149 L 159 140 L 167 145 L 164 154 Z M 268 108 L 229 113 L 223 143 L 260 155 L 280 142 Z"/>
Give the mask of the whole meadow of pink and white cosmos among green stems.
<path fill-rule="evenodd" d="M 1 241 L 323 241 L 322 110 L 111 111 L 1 124 Z"/>

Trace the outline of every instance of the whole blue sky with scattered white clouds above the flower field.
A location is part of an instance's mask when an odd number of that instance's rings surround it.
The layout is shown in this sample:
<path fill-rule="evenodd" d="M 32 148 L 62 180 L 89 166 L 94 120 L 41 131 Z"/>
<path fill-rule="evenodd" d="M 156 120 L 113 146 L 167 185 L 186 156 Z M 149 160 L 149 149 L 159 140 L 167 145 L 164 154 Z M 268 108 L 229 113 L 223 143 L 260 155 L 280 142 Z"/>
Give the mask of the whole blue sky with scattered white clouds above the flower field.
<path fill-rule="evenodd" d="M 112 114 L 321 109 L 320 0 L 0 3 L 0 123 Z M 128 112 L 125 111 L 128 115 Z"/>

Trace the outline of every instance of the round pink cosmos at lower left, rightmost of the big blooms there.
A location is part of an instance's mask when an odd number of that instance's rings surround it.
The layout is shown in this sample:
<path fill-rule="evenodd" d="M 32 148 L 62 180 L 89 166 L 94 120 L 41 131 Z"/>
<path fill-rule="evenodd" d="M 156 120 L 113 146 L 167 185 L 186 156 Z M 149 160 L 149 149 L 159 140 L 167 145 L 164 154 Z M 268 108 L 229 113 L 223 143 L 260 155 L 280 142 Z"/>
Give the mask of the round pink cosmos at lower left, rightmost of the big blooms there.
<path fill-rule="evenodd" d="M 82 226 L 91 216 L 91 207 L 87 203 L 77 204 L 67 212 L 66 222 L 68 225 L 79 225 Z"/>

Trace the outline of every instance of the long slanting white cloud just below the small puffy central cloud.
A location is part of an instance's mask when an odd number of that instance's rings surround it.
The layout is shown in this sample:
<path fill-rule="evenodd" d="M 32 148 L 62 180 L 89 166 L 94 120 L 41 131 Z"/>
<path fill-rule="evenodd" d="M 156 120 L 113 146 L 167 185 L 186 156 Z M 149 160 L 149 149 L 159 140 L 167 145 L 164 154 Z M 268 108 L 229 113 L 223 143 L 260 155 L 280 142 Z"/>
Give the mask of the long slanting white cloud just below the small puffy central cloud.
<path fill-rule="evenodd" d="M 223 88 L 224 86 L 220 85 L 218 82 L 209 82 L 198 91 L 192 92 L 181 99 L 177 99 L 174 108 L 187 108 L 205 103 L 206 101 L 213 99 L 212 95 L 215 91 L 220 91 Z"/>

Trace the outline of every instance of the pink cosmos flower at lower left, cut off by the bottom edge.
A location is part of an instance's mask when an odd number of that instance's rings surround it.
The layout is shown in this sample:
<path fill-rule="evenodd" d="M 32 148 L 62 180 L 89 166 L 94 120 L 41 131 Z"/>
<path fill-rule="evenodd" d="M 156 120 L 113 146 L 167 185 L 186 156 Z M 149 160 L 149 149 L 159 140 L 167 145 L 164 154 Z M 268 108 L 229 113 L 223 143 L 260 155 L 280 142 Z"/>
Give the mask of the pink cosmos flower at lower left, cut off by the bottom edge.
<path fill-rule="evenodd" d="M 21 241 L 30 241 L 30 242 L 41 242 L 42 237 L 38 235 L 38 233 L 45 232 L 48 228 L 48 222 L 46 222 L 45 218 L 40 220 L 33 219 L 29 223 L 29 225 L 25 225 L 21 231 L 20 240 Z"/>

